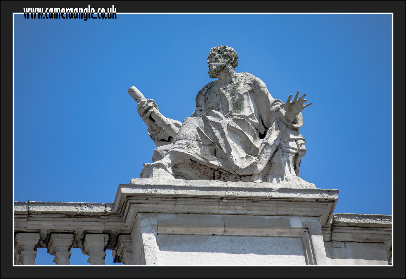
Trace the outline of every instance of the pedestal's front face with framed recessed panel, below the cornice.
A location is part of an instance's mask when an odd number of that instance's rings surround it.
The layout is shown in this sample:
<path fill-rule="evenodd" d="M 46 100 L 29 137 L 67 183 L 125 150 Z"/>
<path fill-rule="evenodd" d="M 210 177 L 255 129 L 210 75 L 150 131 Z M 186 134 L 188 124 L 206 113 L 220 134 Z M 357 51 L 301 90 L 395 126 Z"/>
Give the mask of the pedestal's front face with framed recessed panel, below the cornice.
<path fill-rule="evenodd" d="M 304 223 L 319 222 L 307 218 Z M 133 232 L 139 239 L 134 248 L 144 247 L 141 264 L 305 264 L 304 253 L 312 264 L 323 264 L 317 255 L 322 251 L 326 259 L 323 242 L 307 233 L 304 248 L 302 230 L 294 216 L 138 213 Z M 322 238 L 320 228 L 311 230 Z"/>

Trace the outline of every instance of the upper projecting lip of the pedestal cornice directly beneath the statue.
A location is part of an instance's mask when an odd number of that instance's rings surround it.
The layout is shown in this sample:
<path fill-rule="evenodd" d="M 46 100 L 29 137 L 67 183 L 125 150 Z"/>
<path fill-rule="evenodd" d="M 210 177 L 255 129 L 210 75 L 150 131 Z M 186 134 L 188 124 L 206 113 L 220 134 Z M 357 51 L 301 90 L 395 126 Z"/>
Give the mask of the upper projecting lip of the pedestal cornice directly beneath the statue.
<path fill-rule="evenodd" d="M 316 189 L 314 185 L 279 182 L 223 182 L 217 180 L 181 180 L 160 178 L 132 178 L 130 184 L 120 184 L 114 202 L 106 204 L 107 212 L 119 211 L 119 205 L 131 195 L 155 197 L 211 197 L 211 198 L 279 198 L 338 200 L 338 190 Z M 302 188 L 298 186 L 303 186 Z"/>

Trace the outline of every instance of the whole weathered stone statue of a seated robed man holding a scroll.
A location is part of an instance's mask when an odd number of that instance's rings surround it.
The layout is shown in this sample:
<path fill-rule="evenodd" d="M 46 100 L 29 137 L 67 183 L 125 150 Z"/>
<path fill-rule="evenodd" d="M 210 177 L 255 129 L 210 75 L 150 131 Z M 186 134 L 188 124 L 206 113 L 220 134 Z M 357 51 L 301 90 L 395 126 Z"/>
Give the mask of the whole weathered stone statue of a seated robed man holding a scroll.
<path fill-rule="evenodd" d="M 207 64 L 217 80 L 197 93 L 196 110 L 183 123 L 162 116 L 135 87 L 128 90 L 157 146 L 140 178 L 308 184 L 298 177 L 306 153 L 300 112 L 312 104 L 304 105 L 305 94 L 275 100 L 261 79 L 235 72 L 231 47 L 213 47 Z"/>

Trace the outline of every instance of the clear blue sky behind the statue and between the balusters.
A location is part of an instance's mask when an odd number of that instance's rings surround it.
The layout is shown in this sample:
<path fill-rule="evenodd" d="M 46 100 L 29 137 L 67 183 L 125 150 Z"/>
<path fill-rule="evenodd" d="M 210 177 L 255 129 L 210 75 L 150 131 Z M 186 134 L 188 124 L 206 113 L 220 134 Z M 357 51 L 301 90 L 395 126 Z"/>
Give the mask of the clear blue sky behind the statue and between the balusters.
<path fill-rule="evenodd" d="M 155 148 L 127 89 L 182 121 L 227 45 L 275 99 L 313 102 L 300 177 L 339 189 L 335 213 L 392 214 L 391 15 L 15 15 L 14 32 L 15 201 L 112 202 Z"/>

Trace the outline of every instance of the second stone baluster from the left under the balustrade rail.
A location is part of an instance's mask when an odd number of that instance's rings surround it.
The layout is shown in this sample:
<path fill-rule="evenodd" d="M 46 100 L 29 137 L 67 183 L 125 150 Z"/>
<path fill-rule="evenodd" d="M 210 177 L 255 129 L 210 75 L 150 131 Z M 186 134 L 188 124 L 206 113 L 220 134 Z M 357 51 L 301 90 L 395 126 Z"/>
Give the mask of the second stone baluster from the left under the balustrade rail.
<path fill-rule="evenodd" d="M 69 264 L 73 234 L 51 234 L 48 241 L 48 253 L 55 255 L 54 263 Z"/>

